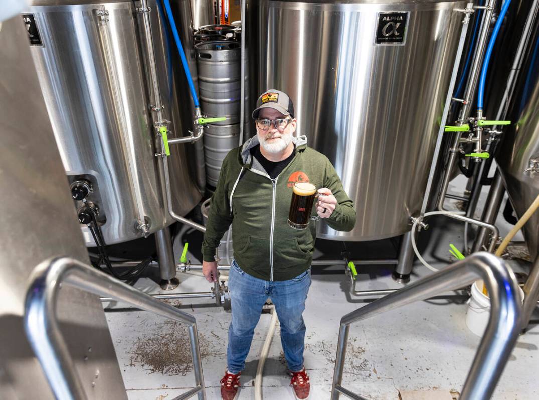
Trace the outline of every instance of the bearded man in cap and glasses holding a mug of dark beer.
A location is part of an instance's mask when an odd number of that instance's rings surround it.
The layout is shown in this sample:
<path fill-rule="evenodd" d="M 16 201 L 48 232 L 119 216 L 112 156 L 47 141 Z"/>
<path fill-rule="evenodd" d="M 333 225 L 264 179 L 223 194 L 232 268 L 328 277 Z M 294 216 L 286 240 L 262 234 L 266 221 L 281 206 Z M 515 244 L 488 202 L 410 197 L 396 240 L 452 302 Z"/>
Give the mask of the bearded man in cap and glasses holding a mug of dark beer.
<path fill-rule="evenodd" d="M 315 220 L 350 231 L 356 211 L 328 158 L 309 148 L 305 135 L 294 135 L 298 121 L 286 93 L 267 90 L 252 116 L 257 135 L 223 160 L 202 244 L 204 276 L 217 282 L 216 249 L 232 224 L 232 322 L 221 396 L 232 400 L 237 395 L 254 328 L 269 298 L 279 317 L 291 387 L 296 398 L 306 399 L 310 382 L 303 365 L 302 314 L 311 282 Z M 313 220 L 302 230 L 287 223 L 292 188 L 298 181 L 319 188 Z"/>

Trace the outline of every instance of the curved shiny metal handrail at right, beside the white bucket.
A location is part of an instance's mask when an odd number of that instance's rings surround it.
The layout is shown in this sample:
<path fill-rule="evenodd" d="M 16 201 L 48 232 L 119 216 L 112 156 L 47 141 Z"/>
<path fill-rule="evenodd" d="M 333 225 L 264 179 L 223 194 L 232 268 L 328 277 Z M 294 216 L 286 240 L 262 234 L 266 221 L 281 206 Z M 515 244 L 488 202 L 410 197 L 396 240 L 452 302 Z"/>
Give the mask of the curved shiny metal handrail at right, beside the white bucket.
<path fill-rule="evenodd" d="M 365 397 L 342 387 L 344 358 L 351 324 L 442 292 L 460 289 L 478 278 L 485 281 L 488 289 L 490 319 L 461 390 L 460 400 L 489 399 L 519 336 L 522 310 L 519 285 L 512 270 L 502 259 L 487 252 L 478 252 L 344 315 L 338 337 L 331 400 L 337 400 L 341 394 L 352 399 L 365 400 Z"/>

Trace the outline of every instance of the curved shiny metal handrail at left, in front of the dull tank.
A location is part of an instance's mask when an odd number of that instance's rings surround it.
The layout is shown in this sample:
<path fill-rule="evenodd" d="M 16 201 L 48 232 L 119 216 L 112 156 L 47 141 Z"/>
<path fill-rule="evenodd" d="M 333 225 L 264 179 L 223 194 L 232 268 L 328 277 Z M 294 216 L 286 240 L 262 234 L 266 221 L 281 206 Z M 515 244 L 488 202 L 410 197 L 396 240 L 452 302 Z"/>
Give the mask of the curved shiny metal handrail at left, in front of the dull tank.
<path fill-rule="evenodd" d="M 45 261 L 33 271 L 26 293 L 24 315 L 26 336 L 56 398 L 87 399 L 56 317 L 56 300 L 61 285 L 69 285 L 99 296 L 109 296 L 125 301 L 141 310 L 187 325 L 195 372 L 195 388 L 174 400 L 190 398 L 194 395 L 198 395 L 198 400 L 206 399 L 195 318 L 103 272 L 67 257 Z"/>

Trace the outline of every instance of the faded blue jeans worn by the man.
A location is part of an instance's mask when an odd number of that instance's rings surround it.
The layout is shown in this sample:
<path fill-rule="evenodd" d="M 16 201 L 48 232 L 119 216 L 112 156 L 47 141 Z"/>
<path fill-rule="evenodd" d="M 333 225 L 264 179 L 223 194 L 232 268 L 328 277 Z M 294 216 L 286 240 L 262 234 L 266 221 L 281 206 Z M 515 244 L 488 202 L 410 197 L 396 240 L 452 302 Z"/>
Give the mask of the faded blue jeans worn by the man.
<path fill-rule="evenodd" d="M 309 286 L 310 270 L 290 280 L 269 282 L 248 275 L 235 260 L 232 261 L 229 273 L 232 322 L 226 352 L 230 374 L 237 374 L 245 368 L 254 328 L 268 298 L 271 298 L 281 324 L 281 344 L 288 369 L 292 372 L 303 369 L 306 329 L 302 314 Z"/>

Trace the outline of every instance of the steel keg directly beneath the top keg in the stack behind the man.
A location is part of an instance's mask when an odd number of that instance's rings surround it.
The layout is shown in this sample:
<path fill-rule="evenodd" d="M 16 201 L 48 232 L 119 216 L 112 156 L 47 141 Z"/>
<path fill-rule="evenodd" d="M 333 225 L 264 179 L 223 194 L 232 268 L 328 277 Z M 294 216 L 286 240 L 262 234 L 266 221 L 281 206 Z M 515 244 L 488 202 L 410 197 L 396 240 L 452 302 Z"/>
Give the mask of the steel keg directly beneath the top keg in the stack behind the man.
<path fill-rule="evenodd" d="M 206 160 L 206 181 L 217 186 L 217 179 L 227 153 L 239 145 L 240 124 L 212 125 L 204 127 L 204 158 Z M 244 137 L 249 130 L 249 123 L 244 125 Z M 247 135 L 248 136 L 248 135 Z"/>

